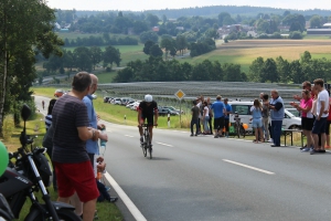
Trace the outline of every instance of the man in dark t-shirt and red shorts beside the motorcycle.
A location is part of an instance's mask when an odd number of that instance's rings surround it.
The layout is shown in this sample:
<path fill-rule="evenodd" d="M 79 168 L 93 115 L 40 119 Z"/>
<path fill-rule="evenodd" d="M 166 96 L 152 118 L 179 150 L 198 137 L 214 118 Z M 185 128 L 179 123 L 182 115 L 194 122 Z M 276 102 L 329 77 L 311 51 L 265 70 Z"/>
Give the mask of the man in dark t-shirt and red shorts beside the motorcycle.
<path fill-rule="evenodd" d="M 83 103 L 89 92 L 92 80 L 88 73 L 77 73 L 72 91 L 57 99 L 53 108 L 53 161 L 57 177 L 58 201 L 68 203 L 75 191 L 84 202 L 83 218 L 93 220 L 99 191 L 86 151 L 85 141 L 97 140 L 99 131 L 90 128 L 87 109 Z"/>

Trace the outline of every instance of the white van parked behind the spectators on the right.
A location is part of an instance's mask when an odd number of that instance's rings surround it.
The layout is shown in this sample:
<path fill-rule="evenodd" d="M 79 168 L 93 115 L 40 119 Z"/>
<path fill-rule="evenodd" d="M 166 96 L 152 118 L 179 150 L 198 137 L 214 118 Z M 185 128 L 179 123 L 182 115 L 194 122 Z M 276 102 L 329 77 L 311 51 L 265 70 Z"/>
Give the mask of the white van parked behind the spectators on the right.
<path fill-rule="evenodd" d="M 237 112 L 239 114 L 241 122 L 243 124 L 248 125 L 247 131 L 252 131 L 252 114 L 250 107 L 253 106 L 253 102 L 228 102 L 232 106 L 232 113 L 229 115 L 229 122 L 234 123 L 234 113 Z M 301 128 L 301 118 L 296 117 L 293 114 L 285 109 L 285 116 L 282 119 L 282 128 L 284 129 L 299 129 Z"/>

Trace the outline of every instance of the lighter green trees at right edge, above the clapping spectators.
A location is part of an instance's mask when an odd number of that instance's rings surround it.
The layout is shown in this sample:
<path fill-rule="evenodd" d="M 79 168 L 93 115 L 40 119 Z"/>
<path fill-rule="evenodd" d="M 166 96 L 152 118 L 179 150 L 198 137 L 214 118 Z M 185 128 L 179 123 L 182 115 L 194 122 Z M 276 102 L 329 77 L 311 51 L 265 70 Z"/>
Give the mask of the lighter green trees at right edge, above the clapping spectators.
<path fill-rule="evenodd" d="M 281 82 L 300 84 L 316 78 L 331 80 L 331 61 L 311 59 L 305 52 L 300 60 L 287 61 L 281 56 L 274 59 L 257 57 L 249 66 L 248 80 L 252 82 Z"/>

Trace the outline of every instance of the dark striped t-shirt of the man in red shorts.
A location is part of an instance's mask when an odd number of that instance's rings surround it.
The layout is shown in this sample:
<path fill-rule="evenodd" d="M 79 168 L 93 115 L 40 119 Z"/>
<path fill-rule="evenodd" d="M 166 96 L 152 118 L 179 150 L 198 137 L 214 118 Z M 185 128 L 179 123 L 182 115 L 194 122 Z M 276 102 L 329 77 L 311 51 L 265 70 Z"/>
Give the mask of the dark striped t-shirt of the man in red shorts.
<path fill-rule="evenodd" d="M 57 99 L 53 112 L 53 161 L 88 161 L 85 141 L 78 136 L 77 127 L 88 127 L 87 108 L 77 97 L 65 95 Z"/>

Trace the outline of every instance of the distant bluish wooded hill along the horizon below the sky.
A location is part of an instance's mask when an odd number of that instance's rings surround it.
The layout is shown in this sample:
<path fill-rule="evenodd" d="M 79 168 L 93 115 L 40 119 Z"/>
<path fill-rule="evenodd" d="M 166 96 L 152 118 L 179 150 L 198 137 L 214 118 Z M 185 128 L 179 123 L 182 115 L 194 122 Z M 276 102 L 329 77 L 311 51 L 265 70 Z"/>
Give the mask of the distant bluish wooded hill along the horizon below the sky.
<path fill-rule="evenodd" d="M 126 13 L 152 13 L 162 18 L 164 14 L 168 19 L 177 19 L 180 17 L 217 17 L 221 12 L 228 12 L 232 15 L 247 15 L 255 17 L 258 13 L 264 14 L 282 14 L 285 11 L 290 11 L 291 13 L 300 13 L 302 15 L 313 15 L 318 14 L 321 17 L 330 17 L 331 10 L 322 10 L 322 9 L 312 9 L 312 10 L 292 10 L 292 9 L 276 9 L 276 8 L 267 8 L 267 7 L 236 7 L 236 6 L 211 6 L 211 7 L 195 7 L 195 8 L 184 8 L 184 9 L 162 9 L 162 10 L 146 10 L 146 11 L 122 11 Z M 108 11 L 76 11 L 76 15 L 92 15 L 100 12 L 118 12 L 114 10 Z"/>

